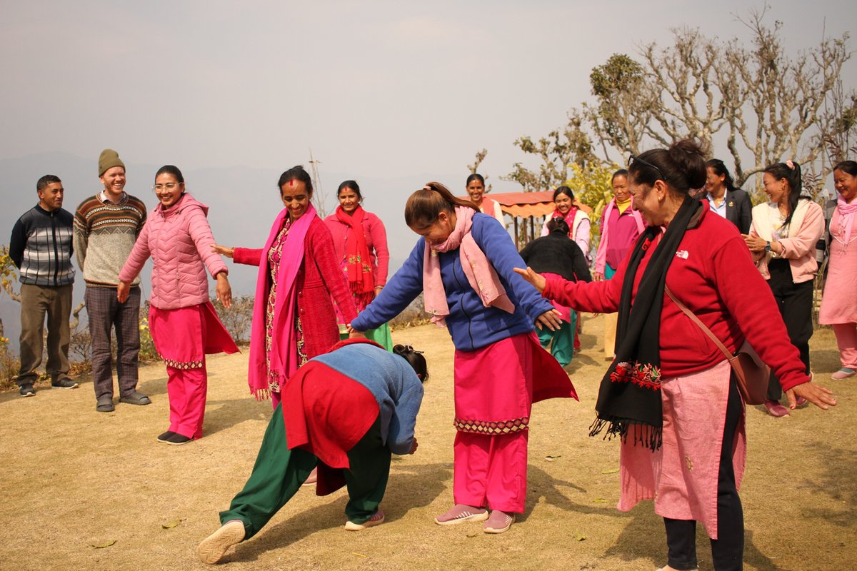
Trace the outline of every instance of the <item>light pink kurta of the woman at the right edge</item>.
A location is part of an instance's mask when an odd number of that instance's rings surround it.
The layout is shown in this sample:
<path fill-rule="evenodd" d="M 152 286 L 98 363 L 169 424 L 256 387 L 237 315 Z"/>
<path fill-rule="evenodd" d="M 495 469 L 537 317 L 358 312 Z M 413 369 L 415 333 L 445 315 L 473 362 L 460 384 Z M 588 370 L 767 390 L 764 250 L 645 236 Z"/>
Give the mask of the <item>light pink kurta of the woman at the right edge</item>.
<path fill-rule="evenodd" d="M 830 265 L 818 323 L 825 325 L 857 323 L 857 232 L 845 243 L 845 227 L 837 207 L 830 220 Z"/>

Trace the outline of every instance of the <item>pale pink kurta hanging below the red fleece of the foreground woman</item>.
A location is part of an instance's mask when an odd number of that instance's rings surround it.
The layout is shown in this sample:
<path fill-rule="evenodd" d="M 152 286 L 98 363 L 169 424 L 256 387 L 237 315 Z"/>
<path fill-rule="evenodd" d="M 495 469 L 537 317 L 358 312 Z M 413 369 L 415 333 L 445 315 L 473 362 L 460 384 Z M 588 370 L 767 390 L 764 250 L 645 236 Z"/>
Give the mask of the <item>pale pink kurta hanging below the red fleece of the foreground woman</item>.
<path fill-rule="evenodd" d="M 621 443 L 618 509 L 628 511 L 654 499 L 656 514 L 697 520 L 709 538 L 717 538 L 717 476 L 730 373 L 724 360 L 702 372 L 662 380 L 663 444 L 652 452 L 635 446 L 633 434 Z M 732 450 L 737 489 L 746 461 L 745 414 L 742 410 Z"/>

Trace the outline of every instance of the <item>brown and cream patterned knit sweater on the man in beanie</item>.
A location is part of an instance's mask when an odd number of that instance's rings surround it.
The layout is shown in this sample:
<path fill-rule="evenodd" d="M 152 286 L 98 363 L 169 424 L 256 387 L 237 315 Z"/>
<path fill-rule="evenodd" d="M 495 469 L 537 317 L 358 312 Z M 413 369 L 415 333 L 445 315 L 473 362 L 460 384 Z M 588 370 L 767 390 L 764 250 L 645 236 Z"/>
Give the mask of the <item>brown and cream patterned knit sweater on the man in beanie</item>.
<path fill-rule="evenodd" d="M 146 205 L 128 193 L 117 204 L 105 202 L 103 197 L 104 193 L 90 196 L 77 207 L 75 254 L 87 285 L 115 288 L 119 271 L 146 223 Z M 131 285 L 139 283 L 138 276 Z"/>

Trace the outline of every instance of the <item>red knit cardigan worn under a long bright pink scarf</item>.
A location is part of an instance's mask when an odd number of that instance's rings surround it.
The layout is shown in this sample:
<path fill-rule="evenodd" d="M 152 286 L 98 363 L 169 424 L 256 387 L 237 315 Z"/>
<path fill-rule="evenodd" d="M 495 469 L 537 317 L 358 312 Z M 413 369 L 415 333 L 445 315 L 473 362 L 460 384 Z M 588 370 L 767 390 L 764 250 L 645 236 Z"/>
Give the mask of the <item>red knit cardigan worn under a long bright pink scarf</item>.
<path fill-rule="evenodd" d="M 261 248 L 237 247 L 232 258 L 236 264 L 258 266 L 264 260 L 267 265 L 267 252 L 263 253 Z M 333 238 L 321 218 L 316 217 L 307 230 L 303 241 L 303 262 L 297 271 L 296 284 L 297 313 L 303 326 L 303 349 L 312 359 L 327 353 L 333 344 L 339 342 L 332 296 L 346 323 L 357 318 L 351 289 L 333 251 Z M 285 295 L 285 292 L 281 294 Z"/>

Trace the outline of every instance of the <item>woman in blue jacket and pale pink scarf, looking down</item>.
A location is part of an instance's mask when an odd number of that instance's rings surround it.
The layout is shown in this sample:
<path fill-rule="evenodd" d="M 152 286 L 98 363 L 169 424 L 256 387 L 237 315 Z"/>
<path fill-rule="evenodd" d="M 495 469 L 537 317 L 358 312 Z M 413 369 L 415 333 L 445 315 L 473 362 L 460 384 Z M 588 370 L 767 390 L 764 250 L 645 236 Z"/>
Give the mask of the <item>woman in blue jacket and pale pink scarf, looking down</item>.
<path fill-rule="evenodd" d="M 405 222 L 421 236 L 417 246 L 351 328 L 387 323 L 423 293 L 456 349 L 455 505 L 435 521 L 485 521 L 484 532 L 505 532 L 524 512 L 532 403 L 576 397 L 533 329 L 556 330 L 560 318 L 515 274 L 524 262 L 506 230 L 470 201 L 429 182 L 411 194 Z"/>

